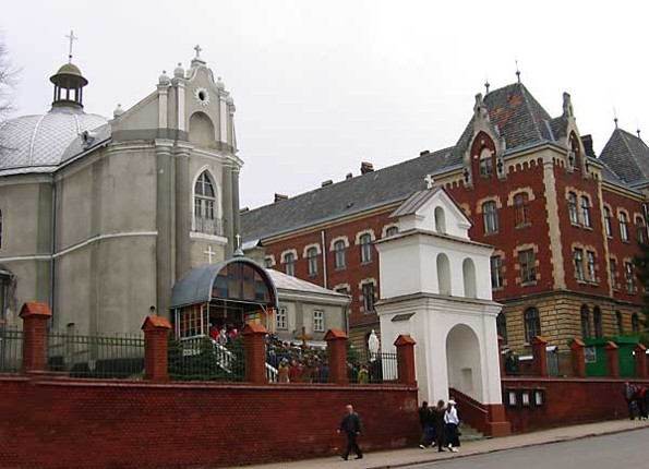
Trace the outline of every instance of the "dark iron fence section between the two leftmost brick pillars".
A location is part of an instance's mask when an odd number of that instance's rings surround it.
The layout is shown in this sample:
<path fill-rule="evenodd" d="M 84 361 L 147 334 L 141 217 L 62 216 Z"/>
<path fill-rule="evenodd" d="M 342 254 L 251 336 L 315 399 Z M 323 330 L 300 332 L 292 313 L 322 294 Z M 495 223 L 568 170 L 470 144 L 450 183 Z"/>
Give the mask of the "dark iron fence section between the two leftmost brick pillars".
<path fill-rule="evenodd" d="M 48 370 L 70 377 L 142 378 L 144 337 L 50 332 L 47 336 Z"/>

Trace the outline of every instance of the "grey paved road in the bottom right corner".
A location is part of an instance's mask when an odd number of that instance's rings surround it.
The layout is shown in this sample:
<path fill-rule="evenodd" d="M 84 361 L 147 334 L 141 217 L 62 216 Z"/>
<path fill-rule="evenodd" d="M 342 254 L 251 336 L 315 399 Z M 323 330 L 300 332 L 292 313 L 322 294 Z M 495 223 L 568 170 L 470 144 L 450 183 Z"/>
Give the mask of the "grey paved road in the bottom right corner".
<path fill-rule="evenodd" d="M 649 429 L 408 466 L 411 469 L 646 469 L 647 467 L 649 467 Z"/>

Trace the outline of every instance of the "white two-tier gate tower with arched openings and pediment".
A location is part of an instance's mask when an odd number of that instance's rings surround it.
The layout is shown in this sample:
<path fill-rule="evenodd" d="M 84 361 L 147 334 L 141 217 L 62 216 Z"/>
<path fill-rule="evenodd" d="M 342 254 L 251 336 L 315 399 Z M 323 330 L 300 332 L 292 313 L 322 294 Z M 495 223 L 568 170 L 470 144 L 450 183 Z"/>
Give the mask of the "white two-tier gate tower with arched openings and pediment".
<path fill-rule="evenodd" d="M 412 194 L 390 218 L 398 233 L 376 241 L 383 351 L 399 335 L 417 342 L 420 400 L 449 389 L 503 414 L 496 316 L 489 262 L 493 249 L 471 241 L 470 221 L 442 188 Z M 453 397 L 457 397 L 457 394 Z"/>

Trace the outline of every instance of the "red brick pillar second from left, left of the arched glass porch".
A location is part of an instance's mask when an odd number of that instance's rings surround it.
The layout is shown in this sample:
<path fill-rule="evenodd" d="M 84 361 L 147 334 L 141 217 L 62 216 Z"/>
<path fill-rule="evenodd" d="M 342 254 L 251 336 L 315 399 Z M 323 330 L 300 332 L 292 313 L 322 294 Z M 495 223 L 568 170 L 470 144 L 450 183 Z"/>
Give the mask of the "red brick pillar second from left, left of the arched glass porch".
<path fill-rule="evenodd" d="M 165 317 L 146 316 L 144 330 L 144 378 L 169 381 L 169 330 L 171 324 Z"/>

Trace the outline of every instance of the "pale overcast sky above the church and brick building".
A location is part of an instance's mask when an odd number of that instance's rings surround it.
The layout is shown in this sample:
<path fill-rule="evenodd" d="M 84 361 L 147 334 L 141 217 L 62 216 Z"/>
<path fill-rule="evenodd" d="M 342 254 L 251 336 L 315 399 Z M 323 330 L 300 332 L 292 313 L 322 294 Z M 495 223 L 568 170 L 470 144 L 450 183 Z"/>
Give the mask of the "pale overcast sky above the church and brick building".
<path fill-rule="evenodd" d="M 601 151 L 614 129 L 649 136 L 649 2 L 7 1 L 0 28 L 22 68 L 14 116 L 49 109 L 67 61 L 89 80 L 88 112 L 112 117 L 187 68 L 193 47 L 237 105 L 241 206 L 454 145 L 474 95 L 521 81 L 555 117 L 573 96 Z M 424 175 L 422 175 L 422 178 Z"/>

